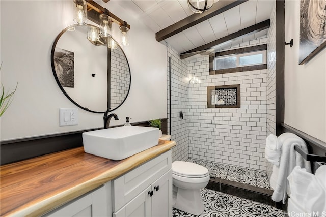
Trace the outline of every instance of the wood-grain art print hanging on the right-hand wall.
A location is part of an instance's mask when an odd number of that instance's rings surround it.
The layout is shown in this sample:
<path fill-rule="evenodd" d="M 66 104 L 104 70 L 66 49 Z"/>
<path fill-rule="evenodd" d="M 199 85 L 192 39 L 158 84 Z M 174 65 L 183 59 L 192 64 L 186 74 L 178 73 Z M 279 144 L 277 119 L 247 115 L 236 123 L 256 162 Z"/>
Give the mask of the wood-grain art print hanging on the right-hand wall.
<path fill-rule="evenodd" d="M 326 46 L 326 1 L 301 0 L 299 65 Z"/>

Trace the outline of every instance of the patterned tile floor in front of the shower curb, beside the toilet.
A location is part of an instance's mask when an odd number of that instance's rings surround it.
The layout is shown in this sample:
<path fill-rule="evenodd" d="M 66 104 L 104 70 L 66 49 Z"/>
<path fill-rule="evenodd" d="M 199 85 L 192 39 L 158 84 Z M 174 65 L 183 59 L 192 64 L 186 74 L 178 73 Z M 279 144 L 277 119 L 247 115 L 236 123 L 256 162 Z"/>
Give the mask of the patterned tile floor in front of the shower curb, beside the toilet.
<path fill-rule="evenodd" d="M 218 191 L 202 189 L 201 196 L 205 209 L 200 217 L 284 217 L 282 210 L 272 206 Z M 173 209 L 173 217 L 196 216 Z"/>

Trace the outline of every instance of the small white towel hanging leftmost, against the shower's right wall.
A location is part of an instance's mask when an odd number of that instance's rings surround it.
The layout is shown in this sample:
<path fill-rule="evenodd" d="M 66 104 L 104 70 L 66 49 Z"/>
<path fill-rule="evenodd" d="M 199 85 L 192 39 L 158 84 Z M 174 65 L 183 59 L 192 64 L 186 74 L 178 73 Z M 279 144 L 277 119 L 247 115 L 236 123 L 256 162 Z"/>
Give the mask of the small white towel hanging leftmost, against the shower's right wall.
<path fill-rule="evenodd" d="M 265 159 L 273 163 L 274 165 L 279 165 L 281 157 L 281 147 L 279 147 L 279 142 L 277 136 L 270 134 L 266 138 L 265 146 Z"/>

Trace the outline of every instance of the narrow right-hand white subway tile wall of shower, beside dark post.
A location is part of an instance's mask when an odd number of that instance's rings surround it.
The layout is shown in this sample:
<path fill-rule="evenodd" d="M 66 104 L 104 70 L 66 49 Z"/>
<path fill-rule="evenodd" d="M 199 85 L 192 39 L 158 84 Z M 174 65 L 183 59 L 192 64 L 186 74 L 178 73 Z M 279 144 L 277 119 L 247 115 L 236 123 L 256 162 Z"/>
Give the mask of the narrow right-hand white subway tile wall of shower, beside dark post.
<path fill-rule="evenodd" d="M 274 3 L 275 5 L 275 3 Z M 270 14 L 270 27 L 267 34 L 267 136 L 276 134 L 275 120 L 275 73 L 276 73 L 276 56 L 275 56 L 275 31 L 276 31 L 276 11 L 275 6 Z M 266 172 L 270 180 L 273 164 L 266 162 Z"/>

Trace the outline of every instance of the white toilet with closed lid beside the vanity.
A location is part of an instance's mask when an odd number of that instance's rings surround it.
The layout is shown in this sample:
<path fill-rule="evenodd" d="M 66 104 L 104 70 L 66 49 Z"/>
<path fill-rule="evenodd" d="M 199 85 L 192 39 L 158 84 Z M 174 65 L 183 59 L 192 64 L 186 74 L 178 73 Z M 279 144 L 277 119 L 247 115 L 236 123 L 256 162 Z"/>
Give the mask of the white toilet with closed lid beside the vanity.
<path fill-rule="evenodd" d="M 170 140 L 170 135 L 162 135 L 163 140 Z M 200 215 L 204 204 L 200 190 L 209 181 L 208 169 L 185 161 L 172 163 L 173 207 L 189 214 Z"/>

